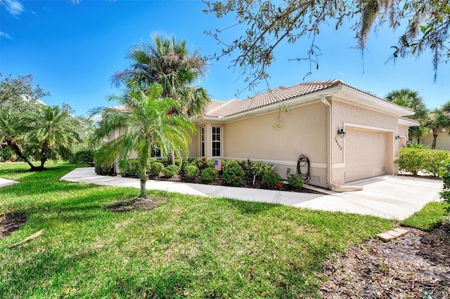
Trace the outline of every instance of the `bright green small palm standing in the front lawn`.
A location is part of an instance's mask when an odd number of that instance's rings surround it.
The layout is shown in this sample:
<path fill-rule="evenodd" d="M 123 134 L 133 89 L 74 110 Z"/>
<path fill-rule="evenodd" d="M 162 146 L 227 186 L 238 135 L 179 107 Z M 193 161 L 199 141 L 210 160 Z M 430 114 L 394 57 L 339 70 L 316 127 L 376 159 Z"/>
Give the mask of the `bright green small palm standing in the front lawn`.
<path fill-rule="evenodd" d="M 174 150 L 176 157 L 180 157 L 180 149 L 188 153 L 188 144 L 191 142 L 189 133 L 195 131 L 195 126 L 182 115 L 167 113 L 174 107 L 175 101 L 160 98 L 160 84 L 146 86 L 145 92 L 133 82 L 128 85 L 129 90 L 123 97 L 113 96 L 109 99 L 128 107 L 128 112 L 114 108 L 103 109 L 94 141 L 110 138 L 117 131 L 120 136 L 106 142 L 98 151 L 96 160 L 101 164 L 111 164 L 119 157 L 119 166 L 124 166 L 131 151 L 135 150 L 141 180 L 139 197 L 146 197 L 146 173 L 152 150 L 158 147 L 163 154 Z"/>

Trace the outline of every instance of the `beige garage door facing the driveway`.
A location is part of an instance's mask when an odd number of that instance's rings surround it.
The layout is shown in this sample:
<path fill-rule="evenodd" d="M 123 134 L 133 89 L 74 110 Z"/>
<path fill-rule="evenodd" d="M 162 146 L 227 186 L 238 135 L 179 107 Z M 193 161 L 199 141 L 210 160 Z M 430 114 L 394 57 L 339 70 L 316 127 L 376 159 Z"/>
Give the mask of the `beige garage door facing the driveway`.
<path fill-rule="evenodd" d="M 387 134 L 352 130 L 345 135 L 345 182 L 386 173 Z"/>

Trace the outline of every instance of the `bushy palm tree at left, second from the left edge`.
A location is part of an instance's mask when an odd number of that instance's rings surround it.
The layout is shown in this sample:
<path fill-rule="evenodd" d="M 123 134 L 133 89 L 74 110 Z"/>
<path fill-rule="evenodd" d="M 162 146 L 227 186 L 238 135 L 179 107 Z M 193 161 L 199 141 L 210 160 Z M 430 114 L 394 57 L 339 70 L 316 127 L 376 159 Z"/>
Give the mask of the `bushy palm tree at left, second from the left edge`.
<path fill-rule="evenodd" d="M 82 141 L 77 127 L 72 126 L 72 120 L 67 109 L 47 105 L 36 105 L 32 113 L 25 117 L 29 126 L 25 139 L 30 145 L 34 145 L 34 152 L 41 161 L 36 170 L 44 170 L 45 162 L 53 154 L 69 157 L 72 145 Z"/>

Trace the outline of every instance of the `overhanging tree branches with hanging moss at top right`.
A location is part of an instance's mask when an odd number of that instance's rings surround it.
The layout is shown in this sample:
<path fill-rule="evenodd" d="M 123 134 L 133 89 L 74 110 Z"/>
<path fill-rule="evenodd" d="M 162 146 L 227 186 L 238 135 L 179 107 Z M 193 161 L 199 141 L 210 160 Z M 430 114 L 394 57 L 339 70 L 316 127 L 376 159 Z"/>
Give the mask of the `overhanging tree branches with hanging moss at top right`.
<path fill-rule="evenodd" d="M 203 0 L 208 8 L 206 13 L 214 13 L 217 18 L 233 15 L 236 23 L 226 29 L 206 32 L 217 39 L 224 48 L 216 58 L 237 52 L 233 60 L 240 67 L 250 85 L 269 77 L 267 67 L 274 61 L 274 49 L 281 41 L 290 44 L 310 40 L 306 57 L 295 60 L 309 60 L 310 69 L 319 67 L 317 58 L 320 49 L 315 44 L 315 36 L 330 24 L 339 29 L 345 20 L 354 19 L 350 28 L 356 32 L 361 51 L 375 23 L 388 24 L 393 29 L 404 29 L 399 33 L 398 43 L 392 58 L 404 58 L 431 51 L 435 69 L 450 56 L 449 0 L 392 1 L 392 0 L 311 0 L 311 1 L 266 1 L 266 0 Z M 241 36 L 231 41 L 224 31 L 233 27 L 243 27 Z M 312 63 L 311 63 L 312 62 Z M 314 65 L 314 66 L 313 66 Z M 311 72 L 311 70 L 310 70 Z"/>

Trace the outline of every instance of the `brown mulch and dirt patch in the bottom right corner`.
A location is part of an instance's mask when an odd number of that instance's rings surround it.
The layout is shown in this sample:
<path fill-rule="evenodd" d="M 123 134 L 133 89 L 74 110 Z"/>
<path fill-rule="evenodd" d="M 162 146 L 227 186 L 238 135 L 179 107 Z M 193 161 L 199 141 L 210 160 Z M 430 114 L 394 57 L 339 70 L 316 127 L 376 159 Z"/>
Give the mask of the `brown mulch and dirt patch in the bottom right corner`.
<path fill-rule="evenodd" d="M 432 232 L 383 243 L 371 239 L 330 258 L 321 274 L 323 298 L 450 298 L 450 222 Z"/>

